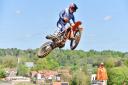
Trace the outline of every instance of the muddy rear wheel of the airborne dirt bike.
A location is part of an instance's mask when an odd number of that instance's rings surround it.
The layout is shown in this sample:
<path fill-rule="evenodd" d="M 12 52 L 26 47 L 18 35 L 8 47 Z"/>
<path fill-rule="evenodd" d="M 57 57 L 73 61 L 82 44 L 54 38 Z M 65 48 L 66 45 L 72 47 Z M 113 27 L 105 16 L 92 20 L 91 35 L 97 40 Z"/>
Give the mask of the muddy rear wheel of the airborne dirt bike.
<path fill-rule="evenodd" d="M 50 41 L 44 43 L 44 44 L 39 48 L 39 50 L 38 50 L 38 52 L 37 52 L 37 56 L 38 56 L 39 58 L 44 58 L 44 57 L 46 57 L 46 56 L 53 50 L 51 44 L 52 44 L 52 42 L 50 42 Z"/>

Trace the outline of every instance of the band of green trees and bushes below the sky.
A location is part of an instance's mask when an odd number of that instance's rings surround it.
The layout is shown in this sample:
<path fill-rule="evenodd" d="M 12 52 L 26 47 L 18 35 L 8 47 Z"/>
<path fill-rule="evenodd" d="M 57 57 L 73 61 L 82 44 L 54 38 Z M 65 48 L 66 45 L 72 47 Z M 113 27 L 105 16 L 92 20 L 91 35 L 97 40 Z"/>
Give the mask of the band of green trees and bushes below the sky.
<path fill-rule="evenodd" d="M 27 75 L 32 70 L 57 70 L 66 68 L 70 70 L 71 85 L 89 85 L 91 73 L 96 73 L 99 63 L 104 62 L 108 72 L 108 85 L 121 85 L 128 83 L 128 53 L 112 50 L 63 50 L 54 49 L 45 58 L 38 58 L 37 49 L 21 50 L 17 48 L 0 49 L 0 68 L 18 68 L 17 75 Z M 18 63 L 18 58 L 20 62 Z M 34 67 L 29 69 L 25 62 L 34 62 Z M 89 65 L 91 67 L 89 67 Z M 80 76 L 82 75 L 82 76 Z M 3 77 L 3 76 L 2 76 Z"/>

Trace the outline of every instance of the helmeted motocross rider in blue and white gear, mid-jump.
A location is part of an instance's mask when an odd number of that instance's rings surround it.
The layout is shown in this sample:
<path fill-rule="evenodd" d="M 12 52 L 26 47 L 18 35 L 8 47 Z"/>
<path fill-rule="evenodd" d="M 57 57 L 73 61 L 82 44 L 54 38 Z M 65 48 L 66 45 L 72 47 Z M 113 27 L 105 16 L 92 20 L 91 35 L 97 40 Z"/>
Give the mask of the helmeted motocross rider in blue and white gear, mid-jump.
<path fill-rule="evenodd" d="M 53 35 L 46 36 L 47 39 L 50 37 L 56 36 L 58 33 L 63 33 L 65 30 L 65 25 L 69 23 L 71 25 L 70 20 L 72 20 L 73 23 L 75 23 L 75 17 L 73 15 L 74 12 L 78 9 L 77 5 L 75 3 L 71 3 L 68 8 L 62 10 L 59 13 L 59 20 L 57 21 L 57 31 Z M 72 37 L 73 38 L 73 37 Z"/>

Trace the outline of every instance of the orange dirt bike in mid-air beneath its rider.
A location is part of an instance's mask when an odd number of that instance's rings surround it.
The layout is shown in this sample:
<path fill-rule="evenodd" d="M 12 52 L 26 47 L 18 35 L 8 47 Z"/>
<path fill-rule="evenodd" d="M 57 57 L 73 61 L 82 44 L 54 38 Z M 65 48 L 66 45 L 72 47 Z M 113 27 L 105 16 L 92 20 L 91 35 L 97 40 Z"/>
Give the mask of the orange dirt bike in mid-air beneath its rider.
<path fill-rule="evenodd" d="M 82 27 L 81 21 L 75 22 L 73 25 L 69 26 L 63 33 L 58 33 L 56 36 L 52 36 L 52 39 L 49 37 L 46 37 L 47 39 L 50 39 L 51 41 L 47 41 L 44 43 L 38 50 L 37 56 L 39 58 L 43 58 L 47 56 L 53 49 L 59 47 L 62 48 L 65 46 L 65 42 L 67 40 L 70 40 L 70 48 L 71 50 L 74 50 L 77 45 L 79 44 L 80 38 L 81 38 L 81 32 Z M 71 38 L 71 33 L 73 33 L 74 38 Z"/>

